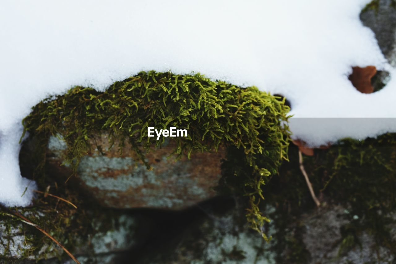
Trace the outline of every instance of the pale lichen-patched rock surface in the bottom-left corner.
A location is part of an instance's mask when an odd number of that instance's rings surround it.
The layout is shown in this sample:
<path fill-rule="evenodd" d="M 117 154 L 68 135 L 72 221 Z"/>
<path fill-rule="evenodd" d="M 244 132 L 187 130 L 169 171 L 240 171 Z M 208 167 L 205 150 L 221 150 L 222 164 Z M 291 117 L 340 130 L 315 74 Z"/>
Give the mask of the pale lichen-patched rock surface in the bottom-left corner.
<path fill-rule="evenodd" d="M 33 213 L 24 213 L 26 217 Z M 45 217 L 45 212 L 34 209 L 34 214 Z M 88 213 L 89 214 L 89 213 Z M 59 263 L 60 256 L 64 263 L 74 263 L 67 256 L 61 247 L 57 246 L 52 240 L 44 237 L 42 246 L 37 248 L 32 242 L 31 235 L 36 230 L 19 220 L 11 223 L 7 218 L 0 220 L 0 262 L 16 261 L 20 263 L 35 263 L 41 260 L 42 263 Z M 88 233 L 80 233 L 73 237 L 73 248 L 69 251 L 81 262 L 92 263 L 116 263 L 116 259 L 122 254 L 145 241 L 148 233 L 150 221 L 141 216 L 133 216 L 128 213 L 107 214 L 106 221 L 102 218 L 93 218 L 91 228 Z M 44 230 L 45 226 L 42 227 Z M 51 233 L 61 244 L 66 245 L 67 234 L 63 237 Z"/>

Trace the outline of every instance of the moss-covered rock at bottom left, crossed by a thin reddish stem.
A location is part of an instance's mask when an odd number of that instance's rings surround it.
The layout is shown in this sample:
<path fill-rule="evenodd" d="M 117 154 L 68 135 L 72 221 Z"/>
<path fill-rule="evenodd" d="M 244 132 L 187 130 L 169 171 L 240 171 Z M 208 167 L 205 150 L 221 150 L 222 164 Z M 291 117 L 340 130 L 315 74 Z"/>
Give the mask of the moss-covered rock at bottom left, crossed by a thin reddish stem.
<path fill-rule="evenodd" d="M 100 256 L 120 257 L 123 251 L 143 243 L 150 229 L 147 219 L 125 212 L 107 210 L 105 214 L 97 214 L 86 209 L 83 213 L 74 210 L 66 216 L 62 206 L 53 211 L 41 207 L 11 209 L 11 212 L 14 210 L 23 211 L 23 216 L 52 235 L 78 260 L 88 258 L 89 263 Z M 57 263 L 70 257 L 34 226 L 11 214 L 0 214 L 0 262 L 35 263 L 47 259 L 49 263 Z"/>

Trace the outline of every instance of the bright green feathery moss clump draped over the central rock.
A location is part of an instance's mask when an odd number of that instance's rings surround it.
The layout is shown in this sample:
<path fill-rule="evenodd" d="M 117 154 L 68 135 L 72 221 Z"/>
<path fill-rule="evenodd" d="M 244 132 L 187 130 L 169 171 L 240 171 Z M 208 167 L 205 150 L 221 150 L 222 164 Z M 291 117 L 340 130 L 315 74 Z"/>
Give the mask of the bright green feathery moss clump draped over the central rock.
<path fill-rule="evenodd" d="M 105 92 L 76 86 L 47 98 L 33 107 L 23 124 L 41 140 L 40 168 L 49 136 L 63 137 L 68 146 L 65 161 L 76 169 L 91 147 L 89 138 L 103 131 L 110 140 L 121 142 L 120 149 L 128 140 L 145 162 L 138 147 L 150 151 L 165 140 L 148 137 L 149 126 L 188 130 L 186 138 L 170 138 L 177 142 L 173 151 L 177 155 L 189 157 L 193 151 L 217 151 L 219 146 L 240 151 L 228 173 L 240 179 L 236 187 L 250 197 L 247 219 L 252 228 L 267 239 L 261 226 L 268 219 L 257 205 L 263 199 L 265 178 L 287 159 L 288 111 L 284 99 L 256 87 L 241 88 L 199 74 L 150 71 L 114 82 Z"/>

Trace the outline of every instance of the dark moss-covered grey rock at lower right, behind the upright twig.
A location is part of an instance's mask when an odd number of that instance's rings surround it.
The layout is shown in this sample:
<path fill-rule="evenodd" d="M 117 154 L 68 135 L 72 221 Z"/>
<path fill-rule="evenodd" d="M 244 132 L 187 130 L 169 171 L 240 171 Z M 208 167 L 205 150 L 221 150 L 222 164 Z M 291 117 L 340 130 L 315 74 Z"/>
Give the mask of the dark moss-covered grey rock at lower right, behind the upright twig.
<path fill-rule="evenodd" d="M 286 237 L 282 230 L 300 223 L 306 229 L 300 241 L 312 259 L 392 261 L 396 256 L 392 233 L 396 226 L 395 154 L 396 134 L 384 134 L 376 139 L 341 140 L 304 157 L 305 170 L 321 201 L 321 209 L 312 213 L 317 209 L 299 168 L 298 149 L 291 147 L 290 162 L 264 188 L 266 203 L 277 211 L 269 216 L 280 230 L 275 237 Z M 318 234 L 323 235 L 318 238 Z M 286 247 L 287 241 L 278 241 L 281 248 Z"/>

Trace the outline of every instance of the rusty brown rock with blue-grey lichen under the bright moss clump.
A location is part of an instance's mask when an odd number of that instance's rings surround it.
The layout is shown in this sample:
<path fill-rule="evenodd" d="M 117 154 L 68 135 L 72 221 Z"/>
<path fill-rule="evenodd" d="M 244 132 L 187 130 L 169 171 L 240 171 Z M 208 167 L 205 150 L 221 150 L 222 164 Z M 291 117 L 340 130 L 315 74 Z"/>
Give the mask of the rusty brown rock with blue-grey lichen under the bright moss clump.
<path fill-rule="evenodd" d="M 173 141 L 172 141 L 173 143 Z M 210 199 L 221 177 L 221 159 L 225 151 L 193 153 L 188 160 L 169 157 L 175 145 L 168 143 L 146 153 L 151 170 L 139 160 L 129 143 L 118 152 L 106 134 L 91 140 L 92 151 L 78 166 L 78 184 L 97 202 L 112 208 L 159 208 L 179 210 Z M 70 176 L 63 163 L 65 142 L 51 137 L 48 163 L 58 174 Z"/>

